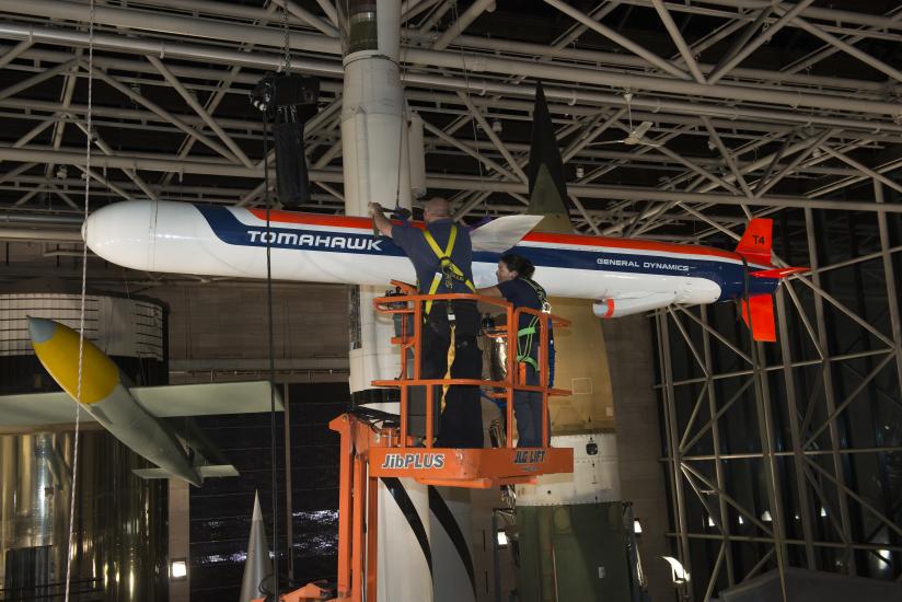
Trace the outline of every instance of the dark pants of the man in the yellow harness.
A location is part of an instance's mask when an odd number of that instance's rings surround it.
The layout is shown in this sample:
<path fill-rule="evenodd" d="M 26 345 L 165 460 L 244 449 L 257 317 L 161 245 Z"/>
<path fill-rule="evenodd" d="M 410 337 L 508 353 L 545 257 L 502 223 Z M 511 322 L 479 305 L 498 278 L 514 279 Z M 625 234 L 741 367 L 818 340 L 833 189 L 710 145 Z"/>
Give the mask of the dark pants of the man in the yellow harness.
<path fill-rule="evenodd" d="M 452 301 L 454 313 L 454 362 L 452 379 L 481 379 L 483 356 L 476 345 L 479 313 L 473 301 Z M 451 346 L 451 324 L 444 303 L 433 304 L 423 326 L 420 378 L 441 379 L 448 371 L 448 348 Z M 436 408 L 441 407 L 441 386 L 432 393 Z M 455 385 L 448 390 L 444 410 L 436 430 L 439 448 L 482 448 L 483 410 L 479 387 Z"/>

